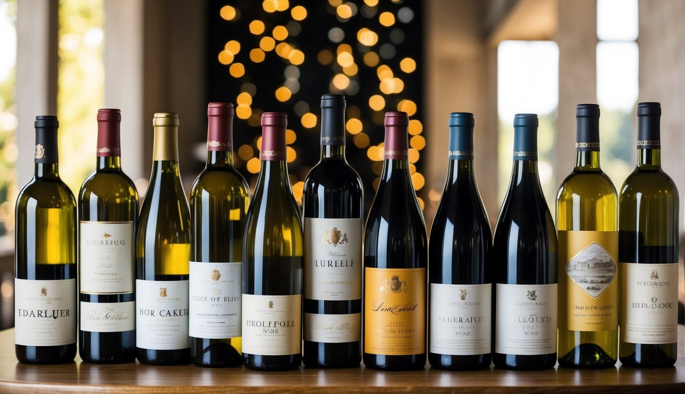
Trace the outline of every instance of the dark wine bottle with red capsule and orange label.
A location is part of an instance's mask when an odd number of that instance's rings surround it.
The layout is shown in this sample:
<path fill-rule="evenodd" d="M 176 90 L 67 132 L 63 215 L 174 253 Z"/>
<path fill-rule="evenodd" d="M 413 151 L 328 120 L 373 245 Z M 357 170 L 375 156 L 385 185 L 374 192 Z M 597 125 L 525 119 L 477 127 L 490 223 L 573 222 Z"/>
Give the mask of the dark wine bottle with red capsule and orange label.
<path fill-rule="evenodd" d="M 381 181 L 364 228 L 364 365 L 406 371 L 426 363 L 426 228 L 409 170 L 409 118 L 385 116 Z"/>

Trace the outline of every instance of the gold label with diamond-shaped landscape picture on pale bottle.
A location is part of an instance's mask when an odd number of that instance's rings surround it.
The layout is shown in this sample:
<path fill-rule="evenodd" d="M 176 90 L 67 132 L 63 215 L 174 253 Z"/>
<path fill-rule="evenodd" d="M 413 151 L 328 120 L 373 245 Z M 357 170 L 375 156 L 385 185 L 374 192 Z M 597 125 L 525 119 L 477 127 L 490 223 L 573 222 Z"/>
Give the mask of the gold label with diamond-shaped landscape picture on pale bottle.
<path fill-rule="evenodd" d="M 559 328 L 616 330 L 618 231 L 558 231 L 558 241 Z"/>

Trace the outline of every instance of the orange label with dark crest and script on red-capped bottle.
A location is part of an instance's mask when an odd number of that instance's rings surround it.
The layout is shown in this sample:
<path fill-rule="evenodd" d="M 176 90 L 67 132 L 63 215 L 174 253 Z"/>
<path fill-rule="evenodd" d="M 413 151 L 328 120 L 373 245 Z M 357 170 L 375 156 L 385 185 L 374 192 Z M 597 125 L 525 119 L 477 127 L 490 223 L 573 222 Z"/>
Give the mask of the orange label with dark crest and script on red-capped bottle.
<path fill-rule="evenodd" d="M 364 352 L 425 352 L 426 269 L 367 267 L 364 276 Z"/>

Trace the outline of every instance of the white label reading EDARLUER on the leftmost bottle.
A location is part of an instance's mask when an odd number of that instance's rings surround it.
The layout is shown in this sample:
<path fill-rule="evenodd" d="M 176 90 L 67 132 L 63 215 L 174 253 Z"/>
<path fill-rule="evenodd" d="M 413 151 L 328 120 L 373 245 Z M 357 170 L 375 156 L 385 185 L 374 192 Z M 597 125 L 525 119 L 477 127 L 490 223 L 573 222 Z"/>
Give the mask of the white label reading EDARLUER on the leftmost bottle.
<path fill-rule="evenodd" d="M 14 343 L 76 343 L 76 280 L 14 279 Z"/>

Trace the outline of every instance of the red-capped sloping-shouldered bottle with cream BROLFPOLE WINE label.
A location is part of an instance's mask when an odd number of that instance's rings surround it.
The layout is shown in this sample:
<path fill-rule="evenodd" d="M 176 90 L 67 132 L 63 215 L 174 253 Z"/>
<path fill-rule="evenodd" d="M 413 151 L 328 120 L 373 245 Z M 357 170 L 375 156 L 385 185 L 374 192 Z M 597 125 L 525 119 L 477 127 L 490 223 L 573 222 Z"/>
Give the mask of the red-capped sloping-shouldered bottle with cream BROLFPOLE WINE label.
<path fill-rule="evenodd" d="M 260 168 L 242 237 L 242 362 L 284 371 L 302 363 L 303 235 L 280 112 L 262 114 Z"/>

